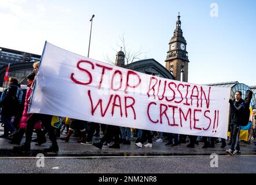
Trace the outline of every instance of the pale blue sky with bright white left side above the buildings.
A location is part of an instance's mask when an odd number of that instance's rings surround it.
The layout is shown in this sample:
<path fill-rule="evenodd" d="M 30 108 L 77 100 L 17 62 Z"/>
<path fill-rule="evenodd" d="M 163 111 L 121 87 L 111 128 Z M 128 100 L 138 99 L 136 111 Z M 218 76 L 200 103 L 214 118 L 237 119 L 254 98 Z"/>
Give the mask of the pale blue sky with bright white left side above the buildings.
<path fill-rule="evenodd" d="M 218 17 L 211 17 L 211 3 Z M 164 60 L 177 14 L 188 43 L 190 83 L 239 81 L 256 85 L 256 1 L 64 1 L 0 0 L 0 46 L 42 54 L 45 40 L 87 56 L 93 19 L 90 58 L 105 61 L 126 46 L 145 52 L 141 58 Z"/>

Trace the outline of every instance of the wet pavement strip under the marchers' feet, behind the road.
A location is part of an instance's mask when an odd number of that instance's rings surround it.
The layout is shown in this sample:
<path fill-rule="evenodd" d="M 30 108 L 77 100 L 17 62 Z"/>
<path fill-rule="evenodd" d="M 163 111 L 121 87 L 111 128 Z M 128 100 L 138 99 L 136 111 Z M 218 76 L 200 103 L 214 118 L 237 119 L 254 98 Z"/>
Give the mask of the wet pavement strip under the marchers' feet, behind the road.
<path fill-rule="evenodd" d="M 0 135 L 3 134 L 3 129 L 0 128 Z M 61 135 L 64 136 L 64 135 Z M 102 136 L 102 135 L 101 135 Z M 33 134 L 33 138 L 36 135 Z M 21 143 L 24 142 L 23 141 Z M 109 147 L 103 147 L 103 149 L 98 149 L 93 145 L 81 145 L 76 142 L 74 136 L 71 136 L 69 142 L 57 139 L 59 151 L 58 153 L 45 153 L 45 156 L 58 156 L 58 157 L 86 157 L 86 156 L 210 156 L 215 153 L 218 155 L 227 155 L 226 150 L 229 149 L 227 145 L 224 149 L 221 149 L 221 142 L 215 144 L 214 148 L 202 149 L 203 142 L 199 142 L 199 145 L 195 145 L 194 149 L 186 147 L 188 143 L 181 144 L 178 147 L 165 146 L 167 140 L 158 143 L 153 141 L 152 148 L 142 149 L 135 145 L 137 138 L 131 138 L 131 145 L 120 144 L 120 149 L 109 149 Z M 156 140 L 154 138 L 153 140 Z M 93 142 L 98 142 L 99 138 L 94 138 Z M 240 142 L 242 155 L 252 155 L 256 154 L 256 146 L 254 143 L 256 140 L 252 141 L 250 145 Z M 43 153 L 43 149 L 50 146 L 50 141 L 47 138 L 47 142 L 41 146 L 35 146 L 35 143 L 31 143 L 30 153 L 14 153 L 13 146 L 9 143 L 8 139 L 0 138 L 0 157 L 17 157 L 17 156 L 36 156 L 38 153 Z"/>

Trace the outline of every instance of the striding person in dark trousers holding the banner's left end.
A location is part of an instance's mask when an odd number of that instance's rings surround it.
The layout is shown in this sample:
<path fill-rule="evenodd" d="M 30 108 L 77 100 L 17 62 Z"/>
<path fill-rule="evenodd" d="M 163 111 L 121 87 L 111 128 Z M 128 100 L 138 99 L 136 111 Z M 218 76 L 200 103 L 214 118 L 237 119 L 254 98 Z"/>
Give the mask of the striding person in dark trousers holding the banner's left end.
<path fill-rule="evenodd" d="M 35 74 L 38 72 L 38 67 L 39 67 L 39 62 L 34 62 L 33 72 Z M 35 79 L 36 79 L 36 77 L 35 77 Z M 33 90 L 34 90 L 34 87 L 35 87 L 35 82 L 36 82 L 36 80 L 34 80 L 34 82 L 31 84 L 31 88 Z M 28 98 L 28 103 L 30 102 L 30 99 L 31 99 L 31 97 Z M 30 143 L 31 143 L 31 139 L 32 139 L 34 125 L 36 123 L 38 123 L 38 121 L 41 121 L 41 123 L 48 130 L 49 139 L 52 142 L 52 145 L 48 149 L 44 149 L 43 151 L 44 152 L 48 152 L 48 151 L 57 152 L 58 151 L 58 145 L 57 145 L 57 140 L 56 140 L 56 134 L 55 134 L 55 131 L 54 131 L 54 127 L 52 127 L 52 125 L 51 125 L 52 117 L 53 117 L 52 115 L 32 113 L 30 118 L 27 121 L 27 128 L 26 128 L 26 131 L 25 131 L 25 143 L 21 146 L 14 146 L 13 150 L 14 151 L 30 151 Z"/>

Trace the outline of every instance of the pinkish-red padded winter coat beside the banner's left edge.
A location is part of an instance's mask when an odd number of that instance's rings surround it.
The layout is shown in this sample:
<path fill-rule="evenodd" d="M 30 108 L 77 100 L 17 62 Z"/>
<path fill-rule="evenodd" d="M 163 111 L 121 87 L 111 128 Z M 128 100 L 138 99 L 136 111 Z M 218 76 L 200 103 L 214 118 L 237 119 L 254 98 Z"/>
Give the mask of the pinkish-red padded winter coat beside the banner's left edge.
<path fill-rule="evenodd" d="M 28 89 L 27 89 L 27 93 L 25 96 L 24 110 L 23 110 L 22 118 L 20 120 L 20 128 L 21 129 L 25 129 L 27 127 L 27 121 L 31 116 L 31 114 L 28 114 L 28 98 L 32 94 L 31 84 L 32 84 L 32 82 L 28 84 Z M 41 121 L 38 121 L 35 124 L 34 129 L 41 129 L 41 128 L 42 128 Z"/>

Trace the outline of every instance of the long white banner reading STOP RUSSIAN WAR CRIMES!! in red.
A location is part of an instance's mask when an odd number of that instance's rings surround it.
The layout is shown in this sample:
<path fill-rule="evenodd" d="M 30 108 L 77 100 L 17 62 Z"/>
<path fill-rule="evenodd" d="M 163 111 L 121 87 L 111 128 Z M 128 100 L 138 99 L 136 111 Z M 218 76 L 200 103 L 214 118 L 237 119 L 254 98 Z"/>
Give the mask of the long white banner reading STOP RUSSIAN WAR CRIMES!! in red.
<path fill-rule="evenodd" d="M 146 75 L 46 42 L 30 113 L 226 138 L 230 88 Z"/>

